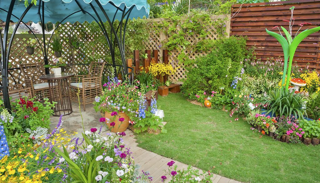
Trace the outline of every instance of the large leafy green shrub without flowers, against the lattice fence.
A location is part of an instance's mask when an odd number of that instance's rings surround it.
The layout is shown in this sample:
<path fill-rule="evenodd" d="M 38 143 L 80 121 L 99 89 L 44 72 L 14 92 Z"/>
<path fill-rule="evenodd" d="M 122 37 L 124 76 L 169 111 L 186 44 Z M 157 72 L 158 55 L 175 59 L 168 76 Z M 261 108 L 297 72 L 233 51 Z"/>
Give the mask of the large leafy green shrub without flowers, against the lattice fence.
<path fill-rule="evenodd" d="M 181 87 L 182 92 L 190 99 L 196 99 L 198 91 L 211 92 L 220 88 L 230 88 L 235 76 L 240 74 L 242 61 L 248 51 L 246 38 L 221 38 L 213 44 L 210 54 L 200 57 L 187 66 L 187 79 Z"/>

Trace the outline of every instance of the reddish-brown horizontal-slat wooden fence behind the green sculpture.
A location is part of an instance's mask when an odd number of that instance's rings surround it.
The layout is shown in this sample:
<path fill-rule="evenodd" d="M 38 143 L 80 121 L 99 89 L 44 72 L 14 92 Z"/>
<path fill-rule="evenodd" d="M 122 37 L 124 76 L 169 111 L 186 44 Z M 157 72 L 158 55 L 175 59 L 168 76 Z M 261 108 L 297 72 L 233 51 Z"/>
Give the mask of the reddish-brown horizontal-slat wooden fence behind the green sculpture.
<path fill-rule="evenodd" d="M 232 7 L 230 35 L 247 36 L 247 46 L 255 47 L 257 58 L 265 61 L 267 58 L 283 58 L 281 45 L 272 36 L 268 35 L 266 28 L 272 30 L 274 26 L 283 26 L 288 29 L 290 20 L 289 8 L 294 6 L 293 17 L 295 26 L 292 28 L 293 35 L 299 29 L 300 22 L 310 22 L 313 25 L 304 25 L 301 30 L 310 29 L 320 24 L 320 0 L 293 0 L 284 2 L 235 4 Z M 300 30 L 300 32 L 301 32 Z M 279 31 L 273 29 L 272 31 Z M 284 35 L 284 33 L 282 32 Z M 310 63 L 309 69 L 320 70 L 320 33 L 314 33 L 304 39 L 299 45 L 294 62 L 301 67 Z"/>

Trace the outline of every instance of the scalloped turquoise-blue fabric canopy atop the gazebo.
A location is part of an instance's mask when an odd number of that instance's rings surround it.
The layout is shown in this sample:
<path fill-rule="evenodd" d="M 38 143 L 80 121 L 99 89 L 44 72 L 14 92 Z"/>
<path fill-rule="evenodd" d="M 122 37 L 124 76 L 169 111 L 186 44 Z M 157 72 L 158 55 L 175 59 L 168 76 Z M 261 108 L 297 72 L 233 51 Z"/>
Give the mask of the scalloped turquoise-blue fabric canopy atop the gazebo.
<path fill-rule="evenodd" d="M 22 21 L 28 22 L 39 22 L 39 2 L 37 5 L 31 7 L 28 13 L 25 15 Z M 148 17 L 150 6 L 147 3 L 147 0 L 98 0 L 108 17 L 112 20 L 115 16 L 116 20 L 122 20 L 123 11 L 126 12 L 130 8 L 132 12 L 129 15 L 129 18 L 138 18 L 146 16 Z M 5 21 L 7 17 L 7 10 L 9 9 L 11 1 L 10 0 L 0 0 L 0 20 Z M 90 3 L 92 3 L 94 9 L 100 15 L 102 21 L 107 21 L 106 17 L 103 16 L 103 11 L 100 9 L 99 5 L 95 0 L 42 0 L 41 6 L 44 6 L 44 21 L 55 23 L 57 21 L 62 21 L 68 15 L 77 12 L 70 17 L 68 17 L 64 22 L 68 21 L 74 23 L 79 21 L 83 23 L 84 21 L 92 22 L 94 19 L 91 15 L 96 17 L 96 14 L 91 7 Z M 21 17 L 22 13 L 26 10 L 23 1 L 16 0 L 12 15 L 16 17 Z M 41 11 L 41 10 L 40 10 Z M 87 13 L 86 13 L 87 12 Z M 13 16 L 11 17 L 12 21 L 18 21 Z M 61 22 L 61 23 L 64 23 Z"/>

